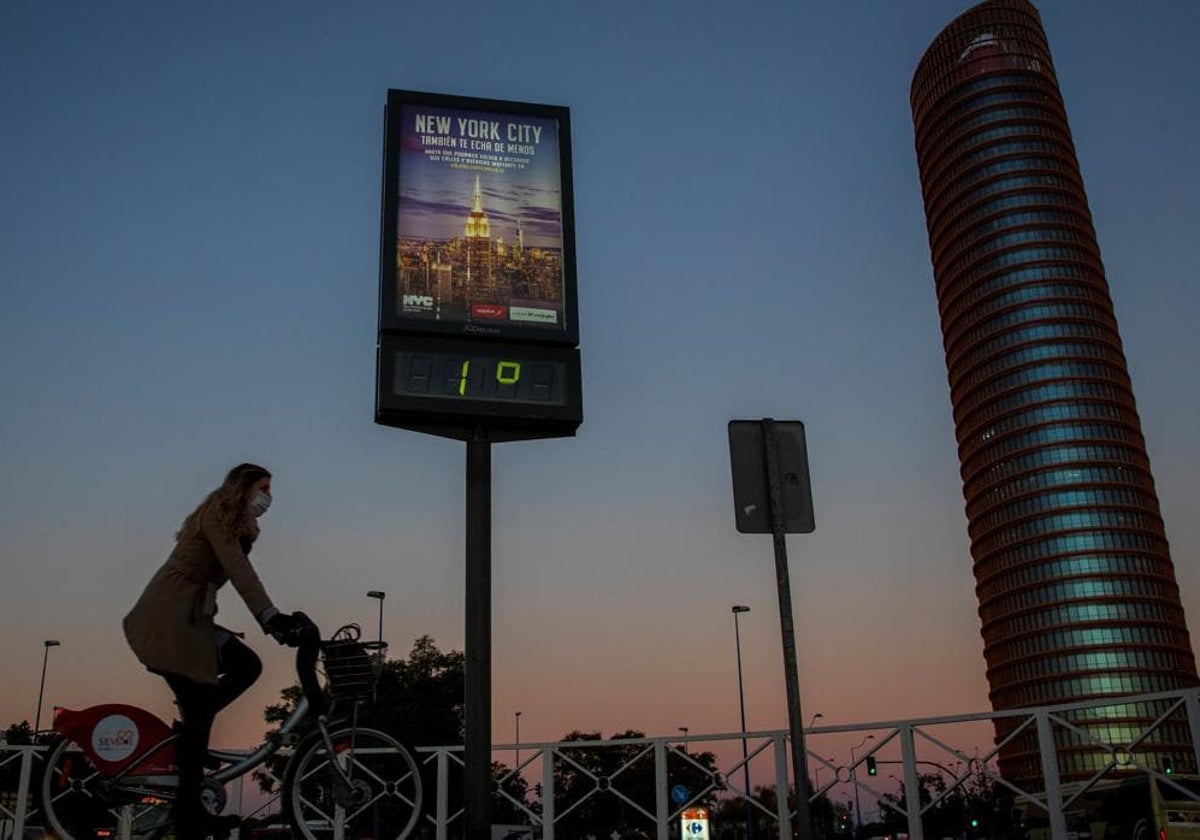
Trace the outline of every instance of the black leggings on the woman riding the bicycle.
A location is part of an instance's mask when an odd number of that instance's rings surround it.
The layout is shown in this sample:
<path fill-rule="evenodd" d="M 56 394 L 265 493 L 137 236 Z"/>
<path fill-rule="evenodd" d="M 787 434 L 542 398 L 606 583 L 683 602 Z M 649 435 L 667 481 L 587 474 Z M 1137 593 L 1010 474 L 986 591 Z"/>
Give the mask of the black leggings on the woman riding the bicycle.
<path fill-rule="evenodd" d="M 254 684 L 263 672 L 258 655 L 228 636 L 218 648 L 220 678 L 197 683 L 175 673 L 162 677 L 175 692 L 182 727 L 175 742 L 175 763 L 179 766 L 179 788 L 175 799 L 175 836 L 203 836 L 200 781 L 204 779 L 204 758 L 209 751 L 209 736 L 217 713 Z"/>

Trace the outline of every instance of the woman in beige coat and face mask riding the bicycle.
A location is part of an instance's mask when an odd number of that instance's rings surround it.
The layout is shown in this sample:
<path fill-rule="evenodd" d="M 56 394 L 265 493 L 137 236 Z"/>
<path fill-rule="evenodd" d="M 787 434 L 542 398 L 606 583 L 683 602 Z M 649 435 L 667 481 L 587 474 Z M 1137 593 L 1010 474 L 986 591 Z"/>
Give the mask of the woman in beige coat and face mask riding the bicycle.
<path fill-rule="evenodd" d="M 216 594 L 233 581 L 263 629 L 294 643 L 308 622 L 280 612 L 250 563 L 258 517 L 271 504 L 271 474 L 252 463 L 234 467 L 184 520 L 175 548 L 125 617 L 125 637 L 143 665 L 175 694 L 181 722 L 174 826 L 178 840 L 222 835 L 236 816 L 216 817 L 200 804 L 209 736 L 217 713 L 248 689 L 263 665 L 238 636 L 217 625 Z"/>

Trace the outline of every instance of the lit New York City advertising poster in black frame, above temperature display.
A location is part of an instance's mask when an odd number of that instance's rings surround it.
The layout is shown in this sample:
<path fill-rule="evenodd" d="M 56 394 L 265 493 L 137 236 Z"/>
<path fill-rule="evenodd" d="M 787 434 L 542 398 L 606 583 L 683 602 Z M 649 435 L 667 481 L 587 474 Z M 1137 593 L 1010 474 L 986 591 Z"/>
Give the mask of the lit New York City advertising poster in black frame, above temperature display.
<path fill-rule="evenodd" d="M 578 343 L 569 138 L 566 108 L 388 91 L 382 331 Z"/>

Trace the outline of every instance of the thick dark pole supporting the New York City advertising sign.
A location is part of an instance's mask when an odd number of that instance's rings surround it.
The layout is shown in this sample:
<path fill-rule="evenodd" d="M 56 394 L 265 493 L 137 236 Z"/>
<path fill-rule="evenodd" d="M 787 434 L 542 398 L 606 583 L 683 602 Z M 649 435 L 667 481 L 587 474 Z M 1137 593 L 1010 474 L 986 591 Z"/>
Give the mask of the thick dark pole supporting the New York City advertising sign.
<path fill-rule="evenodd" d="M 467 840 L 492 836 L 492 444 L 467 442 L 463 804 Z"/>

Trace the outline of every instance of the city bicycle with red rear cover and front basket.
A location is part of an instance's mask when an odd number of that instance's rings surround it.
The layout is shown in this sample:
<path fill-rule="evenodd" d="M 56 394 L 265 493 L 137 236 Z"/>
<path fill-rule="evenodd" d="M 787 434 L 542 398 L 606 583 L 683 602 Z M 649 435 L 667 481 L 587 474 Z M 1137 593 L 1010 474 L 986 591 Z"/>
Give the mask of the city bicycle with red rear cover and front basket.
<path fill-rule="evenodd" d="M 404 840 L 421 810 L 421 774 L 395 738 L 358 726 L 360 704 L 374 694 L 384 642 L 359 641 L 356 624 L 328 641 L 313 632 L 296 649 L 304 696 L 295 710 L 250 755 L 210 750 L 202 799 L 210 814 L 226 806 L 226 782 L 260 767 L 284 745 L 294 745 L 283 770 L 282 802 L 296 833 L 308 840 L 384 838 Z M 317 678 L 324 664 L 329 700 Z M 349 720 L 334 718 L 350 703 Z M 317 730 L 299 738 L 316 712 Z M 47 828 L 61 840 L 84 840 L 109 829 L 139 840 L 170 830 L 179 778 L 174 742 L 179 733 L 136 706 L 106 703 L 79 712 L 56 709 L 62 736 L 42 775 Z"/>

